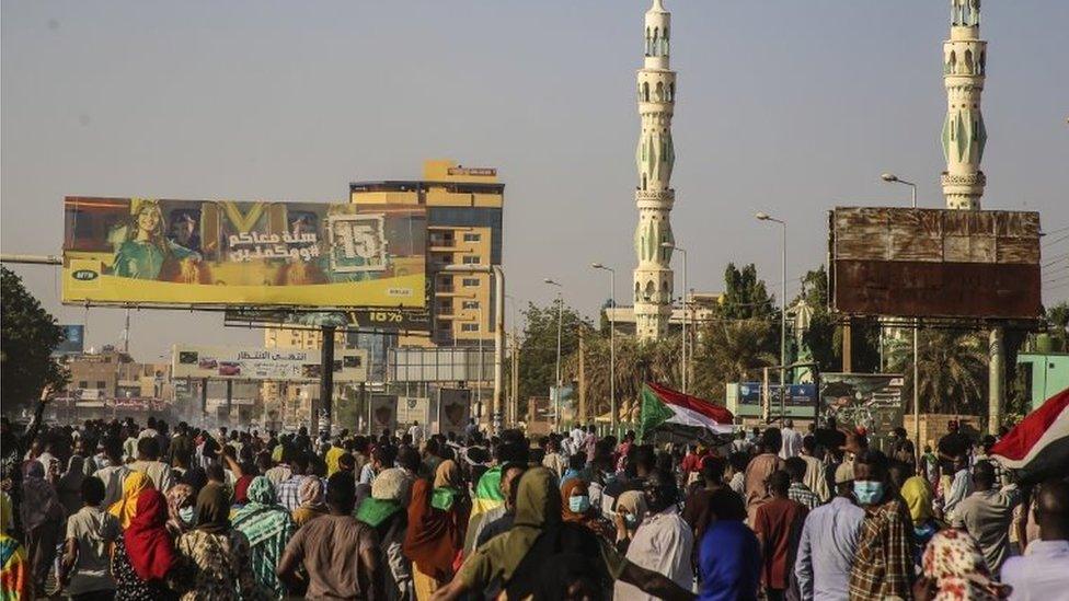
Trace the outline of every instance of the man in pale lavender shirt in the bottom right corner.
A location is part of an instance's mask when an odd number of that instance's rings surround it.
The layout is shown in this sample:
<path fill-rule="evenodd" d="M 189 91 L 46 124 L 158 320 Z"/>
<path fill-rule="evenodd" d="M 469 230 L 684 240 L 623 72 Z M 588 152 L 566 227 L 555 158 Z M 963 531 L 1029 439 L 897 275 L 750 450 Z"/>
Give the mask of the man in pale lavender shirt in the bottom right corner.
<path fill-rule="evenodd" d="M 1069 591 L 1069 483 L 1050 479 L 1039 487 L 1035 509 L 1039 540 L 1022 557 L 1002 565 L 1011 600 L 1065 599 Z"/>

